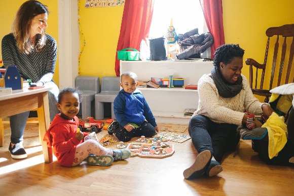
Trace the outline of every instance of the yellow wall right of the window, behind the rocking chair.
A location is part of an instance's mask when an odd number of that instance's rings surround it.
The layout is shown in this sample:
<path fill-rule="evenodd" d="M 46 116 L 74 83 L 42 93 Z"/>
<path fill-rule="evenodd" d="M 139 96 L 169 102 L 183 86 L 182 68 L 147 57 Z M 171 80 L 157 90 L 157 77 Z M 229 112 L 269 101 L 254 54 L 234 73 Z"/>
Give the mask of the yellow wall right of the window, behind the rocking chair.
<path fill-rule="evenodd" d="M 264 62 L 267 42 L 266 30 L 269 27 L 293 24 L 293 8 L 293 0 L 223 0 L 225 42 L 226 44 L 239 44 L 245 50 L 242 73 L 248 81 L 249 66 L 245 64 L 245 60 L 253 58 L 259 63 Z M 268 58 L 272 58 L 272 55 L 269 53 Z M 271 63 L 272 61 L 268 60 L 268 62 Z M 269 89 L 270 73 L 271 64 L 268 64 L 266 75 L 269 77 L 265 79 L 265 89 Z M 292 69 L 290 82 L 292 82 L 293 77 L 294 71 Z M 260 101 L 264 99 L 258 98 Z"/>

